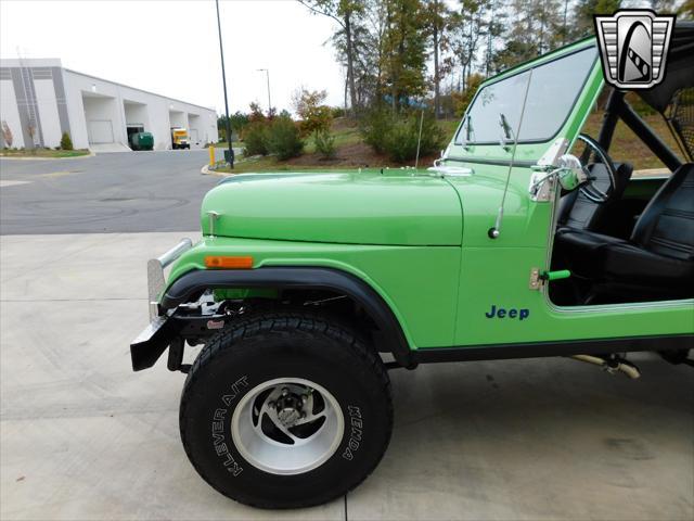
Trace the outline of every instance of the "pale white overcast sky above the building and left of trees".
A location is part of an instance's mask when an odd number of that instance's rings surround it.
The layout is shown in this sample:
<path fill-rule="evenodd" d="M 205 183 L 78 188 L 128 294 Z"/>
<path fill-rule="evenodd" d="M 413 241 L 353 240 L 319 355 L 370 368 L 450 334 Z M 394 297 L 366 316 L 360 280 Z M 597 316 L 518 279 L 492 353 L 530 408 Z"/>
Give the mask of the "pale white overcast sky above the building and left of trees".
<path fill-rule="evenodd" d="M 220 0 L 229 110 L 292 110 L 304 86 L 342 105 L 336 24 L 294 0 Z M 1 58 L 60 58 L 63 66 L 223 113 L 213 0 L 0 0 Z"/>

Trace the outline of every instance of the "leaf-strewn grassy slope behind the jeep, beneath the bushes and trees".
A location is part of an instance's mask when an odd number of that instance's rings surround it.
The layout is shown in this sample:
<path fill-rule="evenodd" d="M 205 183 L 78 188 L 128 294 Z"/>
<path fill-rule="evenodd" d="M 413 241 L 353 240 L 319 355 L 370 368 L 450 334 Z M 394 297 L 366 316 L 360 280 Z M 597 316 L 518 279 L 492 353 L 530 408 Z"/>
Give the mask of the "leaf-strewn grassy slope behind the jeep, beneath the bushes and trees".
<path fill-rule="evenodd" d="M 597 137 L 603 120 L 603 112 L 595 111 L 590 114 L 583 127 L 583 132 Z M 663 138 L 663 140 L 676 152 L 679 150 L 670 130 L 663 117 L 658 114 L 645 116 L 644 120 Z M 458 129 L 458 119 L 439 122 L 440 128 L 446 136 L 446 142 L 450 141 Z M 346 119 L 336 119 L 331 129 L 335 137 L 336 156 L 333 160 L 325 160 L 316 153 L 316 145 L 311 136 L 305 139 L 304 154 L 288 161 L 278 161 L 277 157 L 252 157 L 241 158 L 234 165 L 234 174 L 248 171 L 320 171 L 335 169 L 354 168 L 378 168 L 383 166 L 398 167 L 402 165 L 394 164 L 387 156 L 374 153 L 370 147 L 363 143 L 359 129 L 354 123 Z M 234 142 L 234 147 L 243 148 L 242 142 Z M 216 145 L 222 148 L 221 145 Z M 578 155 L 579 150 L 574 151 Z M 609 154 L 616 162 L 631 163 L 634 169 L 663 168 L 660 161 L 635 137 L 635 135 L 624 124 L 619 123 L 615 129 Z M 429 157 L 420 157 L 421 167 L 429 166 L 438 157 L 435 154 Z M 414 161 L 407 163 L 414 165 Z M 229 168 L 219 168 L 217 171 L 231 173 Z"/>

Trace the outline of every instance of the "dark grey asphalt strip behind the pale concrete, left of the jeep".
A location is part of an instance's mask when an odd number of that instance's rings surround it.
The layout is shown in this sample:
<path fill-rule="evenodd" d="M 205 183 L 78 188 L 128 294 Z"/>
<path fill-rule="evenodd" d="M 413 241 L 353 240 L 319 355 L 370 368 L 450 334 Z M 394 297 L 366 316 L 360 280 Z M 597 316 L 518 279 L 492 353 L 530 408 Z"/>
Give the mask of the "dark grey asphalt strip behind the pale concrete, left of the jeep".
<path fill-rule="evenodd" d="M 218 177 L 206 150 L 98 154 L 60 161 L 0 158 L 0 233 L 194 230 Z"/>

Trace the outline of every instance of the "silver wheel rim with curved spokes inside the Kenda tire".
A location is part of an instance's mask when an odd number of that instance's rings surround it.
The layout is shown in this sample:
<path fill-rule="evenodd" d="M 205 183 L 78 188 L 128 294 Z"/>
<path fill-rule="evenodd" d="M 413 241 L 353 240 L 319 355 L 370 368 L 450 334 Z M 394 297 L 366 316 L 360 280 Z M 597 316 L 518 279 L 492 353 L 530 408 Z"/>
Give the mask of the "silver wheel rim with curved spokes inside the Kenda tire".
<path fill-rule="evenodd" d="M 273 474 L 300 474 L 335 454 L 345 419 L 325 387 L 301 378 L 256 385 L 239 402 L 231 436 L 241 456 Z"/>

